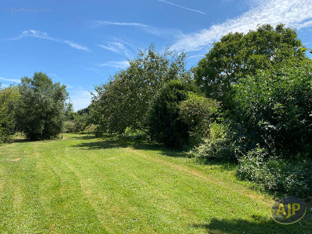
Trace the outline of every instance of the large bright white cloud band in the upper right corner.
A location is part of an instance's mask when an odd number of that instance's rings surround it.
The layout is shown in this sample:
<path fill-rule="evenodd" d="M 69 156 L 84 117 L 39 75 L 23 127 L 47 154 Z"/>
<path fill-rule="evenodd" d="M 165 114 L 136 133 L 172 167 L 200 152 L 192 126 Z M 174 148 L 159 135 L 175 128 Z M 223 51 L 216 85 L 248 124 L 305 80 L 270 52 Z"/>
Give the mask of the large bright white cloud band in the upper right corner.
<path fill-rule="evenodd" d="M 265 0 L 258 6 L 241 16 L 228 19 L 223 23 L 212 25 L 208 29 L 185 35 L 171 46 L 171 49 L 181 51 L 199 51 L 208 49 L 229 32 L 248 32 L 256 29 L 258 24 L 270 23 L 277 25 L 282 22 L 288 27 L 297 29 L 312 26 L 311 0 Z"/>

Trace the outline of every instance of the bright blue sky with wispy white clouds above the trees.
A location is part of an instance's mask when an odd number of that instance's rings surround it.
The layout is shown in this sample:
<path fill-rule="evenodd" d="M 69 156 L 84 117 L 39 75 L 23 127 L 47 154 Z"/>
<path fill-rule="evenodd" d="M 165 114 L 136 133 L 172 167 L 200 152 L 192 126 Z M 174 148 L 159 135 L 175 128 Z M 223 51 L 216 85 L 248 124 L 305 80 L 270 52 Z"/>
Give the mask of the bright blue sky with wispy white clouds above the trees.
<path fill-rule="evenodd" d="M 186 50 L 191 67 L 223 35 L 257 24 L 283 22 L 298 28 L 308 47 L 312 41 L 312 0 L 2 0 L 0 5 L 2 86 L 43 71 L 67 85 L 75 110 L 90 103 L 88 90 L 151 42 L 160 51 L 167 44 Z"/>

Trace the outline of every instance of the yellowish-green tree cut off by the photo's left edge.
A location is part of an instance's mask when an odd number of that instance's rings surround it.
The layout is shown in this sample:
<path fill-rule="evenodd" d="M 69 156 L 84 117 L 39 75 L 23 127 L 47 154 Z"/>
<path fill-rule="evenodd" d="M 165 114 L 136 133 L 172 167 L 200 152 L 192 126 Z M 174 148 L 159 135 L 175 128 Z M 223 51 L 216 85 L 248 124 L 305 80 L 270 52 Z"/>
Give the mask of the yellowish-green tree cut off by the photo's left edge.
<path fill-rule="evenodd" d="M 9 143 L 15 131 L 14 109 L 19 99 L 17 86 L 0 90 L 0 143 Z"/>

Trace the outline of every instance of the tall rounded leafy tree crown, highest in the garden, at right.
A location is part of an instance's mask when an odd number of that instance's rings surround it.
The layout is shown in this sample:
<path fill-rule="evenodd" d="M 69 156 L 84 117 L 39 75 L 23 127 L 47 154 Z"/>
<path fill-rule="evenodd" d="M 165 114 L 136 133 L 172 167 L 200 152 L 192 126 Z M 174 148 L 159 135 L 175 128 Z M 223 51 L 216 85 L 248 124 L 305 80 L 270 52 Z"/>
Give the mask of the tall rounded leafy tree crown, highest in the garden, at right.
<path fill-rule="evenodd" d="M 193 68 L 197 85 L 208 98 L 232 109 L 231 84 L 241 77 L 254 75 L 257 69 L 268 69 L 286 60 L 305 58 L 302 42 L 295 29 L 279 24 L 275 29 L 264 24 L 256 30 L 229 33 Z"/>

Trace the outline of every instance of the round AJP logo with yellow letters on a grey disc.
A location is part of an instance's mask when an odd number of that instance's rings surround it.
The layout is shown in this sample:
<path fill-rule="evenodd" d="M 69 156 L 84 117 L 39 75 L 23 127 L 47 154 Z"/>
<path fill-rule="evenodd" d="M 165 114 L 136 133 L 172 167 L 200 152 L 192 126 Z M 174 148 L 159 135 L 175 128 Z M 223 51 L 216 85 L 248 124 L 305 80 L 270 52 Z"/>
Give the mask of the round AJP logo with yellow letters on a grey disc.
<path fill-rule="evenodd" d="M 271 217 L 280 224 L 292 224 L 305 216 L 305 202 L 295 196 L 283 197 L 271 208 Z"/>

